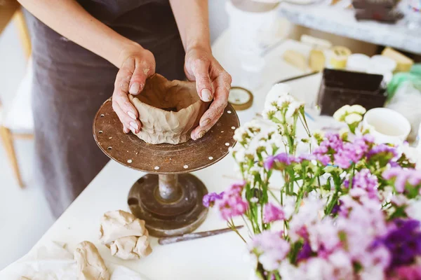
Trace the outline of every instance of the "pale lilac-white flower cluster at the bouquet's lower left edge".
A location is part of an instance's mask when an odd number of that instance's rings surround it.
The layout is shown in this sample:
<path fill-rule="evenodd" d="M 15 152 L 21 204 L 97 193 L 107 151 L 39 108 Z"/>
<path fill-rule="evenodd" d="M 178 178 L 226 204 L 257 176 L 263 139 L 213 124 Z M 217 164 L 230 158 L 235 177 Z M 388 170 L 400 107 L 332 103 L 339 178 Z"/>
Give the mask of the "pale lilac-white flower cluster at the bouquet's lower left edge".
<path fill-rule="evenodd" d="M 258 256 L 259 262 L 267 271 L 278 269 L 290 251 L 290 244 L 282 235 L 283 232 L 265 230 L 260 235 L 255 235 L 248 245 L 250 252 Z"/>

